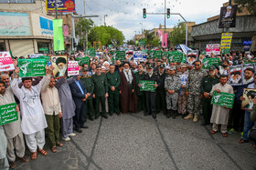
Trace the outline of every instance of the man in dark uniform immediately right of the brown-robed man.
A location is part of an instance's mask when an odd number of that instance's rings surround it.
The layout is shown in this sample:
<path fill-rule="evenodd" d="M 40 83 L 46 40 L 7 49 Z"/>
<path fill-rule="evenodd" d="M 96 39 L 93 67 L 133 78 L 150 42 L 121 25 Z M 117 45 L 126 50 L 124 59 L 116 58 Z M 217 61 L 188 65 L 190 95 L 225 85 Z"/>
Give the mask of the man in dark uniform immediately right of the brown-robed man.
<path fill-rule="evenodd" d="M 138 72 L 134 74 L 135 84 L 136 84 L 136 95 L 138 97 L 138 112 L 144 111 L 145 113 L 145 94 L 140 90 L 141 85 L 139 84 L 140 80 L 144 79 L 144 65 L 138 65 Z"/>

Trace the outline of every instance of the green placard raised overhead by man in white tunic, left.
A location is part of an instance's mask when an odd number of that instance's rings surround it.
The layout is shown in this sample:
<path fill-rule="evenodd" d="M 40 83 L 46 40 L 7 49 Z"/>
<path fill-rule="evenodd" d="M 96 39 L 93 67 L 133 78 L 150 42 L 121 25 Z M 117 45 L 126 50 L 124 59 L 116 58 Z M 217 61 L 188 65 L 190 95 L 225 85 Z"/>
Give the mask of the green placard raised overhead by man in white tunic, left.
<path fill-rule="evenodd" d="M 45 59 L 18 59 L 19 77 L 46 75 Z"/>

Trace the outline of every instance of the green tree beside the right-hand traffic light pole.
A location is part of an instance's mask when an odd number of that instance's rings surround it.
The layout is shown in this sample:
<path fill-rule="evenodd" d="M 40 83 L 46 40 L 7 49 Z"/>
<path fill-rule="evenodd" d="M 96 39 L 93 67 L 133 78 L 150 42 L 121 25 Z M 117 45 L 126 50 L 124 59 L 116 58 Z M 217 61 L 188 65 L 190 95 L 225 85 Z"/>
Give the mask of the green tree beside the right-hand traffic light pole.
<path fill-rule="evenodd" d="M 186 40 L 186 26 L 184 23 L 179 23 L 174 27 L 168 38 L 173 45 L 183 44 Z"/>

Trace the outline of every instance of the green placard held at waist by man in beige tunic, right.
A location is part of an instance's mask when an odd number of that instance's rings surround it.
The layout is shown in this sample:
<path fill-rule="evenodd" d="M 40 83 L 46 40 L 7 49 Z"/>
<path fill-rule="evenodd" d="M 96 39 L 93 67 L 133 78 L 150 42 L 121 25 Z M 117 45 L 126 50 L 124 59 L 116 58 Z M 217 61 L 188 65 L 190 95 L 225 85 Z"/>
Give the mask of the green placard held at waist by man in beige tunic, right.
<path fill-rule="evenodd" d="M 233 108 L 235 95 L 228 94 L 224 92 L 213 92 L 212 98 L 211 98 L 211 105 L 220 105 L 220 106 L 226 106 L 228 108 Z"/>

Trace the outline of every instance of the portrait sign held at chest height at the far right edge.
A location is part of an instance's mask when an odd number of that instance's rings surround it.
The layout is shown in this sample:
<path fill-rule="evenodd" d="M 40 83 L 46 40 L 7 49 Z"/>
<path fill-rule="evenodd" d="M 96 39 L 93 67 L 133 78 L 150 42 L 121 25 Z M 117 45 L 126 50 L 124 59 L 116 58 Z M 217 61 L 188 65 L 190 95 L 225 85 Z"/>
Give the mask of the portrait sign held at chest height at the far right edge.
<path fill-rule="evenodd" d="M 256 89 L 254 88 L 243 88 L 242 97 L 244 100 L 241 101 L 242 110 L 252 110 L 253 99 L 256 96 Z"/>

